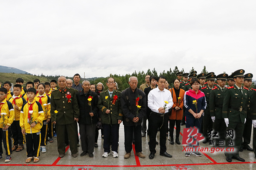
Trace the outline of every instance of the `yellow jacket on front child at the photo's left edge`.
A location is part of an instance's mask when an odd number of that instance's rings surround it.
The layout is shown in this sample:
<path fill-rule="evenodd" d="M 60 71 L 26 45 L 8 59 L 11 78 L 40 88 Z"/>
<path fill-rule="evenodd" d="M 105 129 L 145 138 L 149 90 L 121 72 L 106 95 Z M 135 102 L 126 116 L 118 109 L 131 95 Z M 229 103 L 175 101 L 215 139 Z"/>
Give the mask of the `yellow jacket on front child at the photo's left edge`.
<path fill-rule="evenodd" d="M 3 102 L 0 103 L 0 113 L 0 128 L 6 125 L 11 126 L 14 119 L 12 103 L 4 99 Z"/>

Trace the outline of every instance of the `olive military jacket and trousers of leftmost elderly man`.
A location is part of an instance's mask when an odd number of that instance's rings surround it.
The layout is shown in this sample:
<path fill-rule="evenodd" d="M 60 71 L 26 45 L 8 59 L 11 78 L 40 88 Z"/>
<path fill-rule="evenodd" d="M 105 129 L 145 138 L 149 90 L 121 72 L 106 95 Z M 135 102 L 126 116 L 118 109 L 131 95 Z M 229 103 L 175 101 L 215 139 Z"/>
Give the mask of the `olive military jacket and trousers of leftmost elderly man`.
<path fill-rule="evenodd" d="M 67 99 L 67 95 L 71 96 L 70 100 Z M 56 122 L 55 127 L 59 154 L 65 153 L 65 129 L 67 129 L 71 153 L 77 153 L 77 127 L 74 118 L 79 118 L 79 116 L 76 91 L 73 88 L 65 88 L 63 91 L 58 88 L 57 90 L 52 91 L 51 118 L 52 122 Z"/>

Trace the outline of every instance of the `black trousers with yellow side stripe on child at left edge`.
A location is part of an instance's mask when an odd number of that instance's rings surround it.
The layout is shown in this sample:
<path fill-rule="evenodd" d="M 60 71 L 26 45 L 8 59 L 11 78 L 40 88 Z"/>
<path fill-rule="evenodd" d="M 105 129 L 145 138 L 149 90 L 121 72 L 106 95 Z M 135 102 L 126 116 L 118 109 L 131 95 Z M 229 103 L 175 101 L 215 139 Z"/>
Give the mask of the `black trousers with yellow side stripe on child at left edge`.
<path fill-rule="evenodd" d="M 0 128 L 0 141 L 3 140 L 3 147 L 6 150 L 6 156 L 12 154 L 12 133 L 11 128 L 9 127 L 8 130 L 3 131 L 3 128 Z M 2 143 L 0 144 L 0 155 L 3 154 L 3 147 Z"/>

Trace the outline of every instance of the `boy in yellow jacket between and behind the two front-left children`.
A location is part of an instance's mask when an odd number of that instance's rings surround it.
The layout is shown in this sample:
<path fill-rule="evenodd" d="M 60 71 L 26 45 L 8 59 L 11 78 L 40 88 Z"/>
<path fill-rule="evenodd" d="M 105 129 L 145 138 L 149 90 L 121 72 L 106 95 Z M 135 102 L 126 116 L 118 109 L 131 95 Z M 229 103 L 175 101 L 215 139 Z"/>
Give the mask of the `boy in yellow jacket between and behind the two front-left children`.
<path fill-rule="evenodd" d="M 9 102 L 12 103 L 14 108 L 14 120 L 12 122 L 12 138 L 13 138 L 13 147 L 12 151 L 19 152 L 24 149 L 23 146 L 23 135 L 21 133 L 20 128 L 20 110 L 23 104 L 26 103 L 26 100 L 21 96 L 22 86 L 20 84 L 16 84 L 13 86 L 14 95 L 9 99 Z M 19 146 L 18 146 L 19 144 Z"/>

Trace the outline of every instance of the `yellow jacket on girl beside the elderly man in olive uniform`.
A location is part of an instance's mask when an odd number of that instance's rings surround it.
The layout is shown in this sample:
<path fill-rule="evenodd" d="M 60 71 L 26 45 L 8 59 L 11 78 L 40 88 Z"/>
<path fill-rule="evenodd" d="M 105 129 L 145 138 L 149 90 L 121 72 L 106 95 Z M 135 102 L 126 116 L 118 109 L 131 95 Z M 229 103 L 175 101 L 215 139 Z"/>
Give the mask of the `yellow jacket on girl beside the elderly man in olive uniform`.
<path fill-rule="evenodd" d="M 40 99 L 40 95 L 39 93 L 36 95 L 35 100 L 39 102 Z M 46 120 L 47 118 L 51 119 L 51 102 L 50 102 L 50 97 L 46 95 L 46 93 L 44 93 L 41 97 L 41 101 L 42 101 L 42 108 L 44 110 L 44 120 Z"/>

